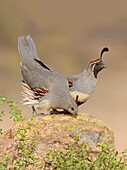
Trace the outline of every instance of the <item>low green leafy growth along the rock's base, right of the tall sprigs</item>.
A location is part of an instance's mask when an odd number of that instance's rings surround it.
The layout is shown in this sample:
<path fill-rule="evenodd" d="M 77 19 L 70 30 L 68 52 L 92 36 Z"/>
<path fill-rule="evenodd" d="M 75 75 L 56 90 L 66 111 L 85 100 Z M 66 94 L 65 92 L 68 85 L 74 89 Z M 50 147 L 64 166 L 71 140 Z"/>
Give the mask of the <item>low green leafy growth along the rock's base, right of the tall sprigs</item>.
<path fill-rule="evenodd" d="M 53 167 L 54 169 L 102 169 L 116 170 L 127 168 L 127 151 L 125 150 L 118 155 L 114 145 L 100 145 L 99 151 L 90 151 L 90 148 L 85 145 L 79 145 L 78 148 L 70 147 L 68 151 L 59 150 L 49 151 L 46 155 L 45 167 Z M 95 155 L 94 155 L 95 154 Z"/>

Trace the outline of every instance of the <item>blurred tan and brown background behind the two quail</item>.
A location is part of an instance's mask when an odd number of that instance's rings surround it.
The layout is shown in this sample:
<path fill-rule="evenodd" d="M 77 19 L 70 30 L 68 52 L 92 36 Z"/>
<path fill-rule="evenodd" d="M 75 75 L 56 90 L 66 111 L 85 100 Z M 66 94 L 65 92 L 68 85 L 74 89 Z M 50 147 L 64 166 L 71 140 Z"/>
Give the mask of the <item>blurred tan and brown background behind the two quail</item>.
<path fill-rule="evenodd" d="M 19 102 L 27 118 L 31 108 L 20 103 L 18 36 L 30 34 L 40 59 L 65 76 L 82 72 L 103 47 L 103 61 L 93 96 L 80 112 L 104 121 L 115 134 L 117 149 L 127 148 L 127 2 L 88 0 L 0 0 L 0 94 Z M 13 122 L 8 108 L 0 122 L 6 130 Z"/>

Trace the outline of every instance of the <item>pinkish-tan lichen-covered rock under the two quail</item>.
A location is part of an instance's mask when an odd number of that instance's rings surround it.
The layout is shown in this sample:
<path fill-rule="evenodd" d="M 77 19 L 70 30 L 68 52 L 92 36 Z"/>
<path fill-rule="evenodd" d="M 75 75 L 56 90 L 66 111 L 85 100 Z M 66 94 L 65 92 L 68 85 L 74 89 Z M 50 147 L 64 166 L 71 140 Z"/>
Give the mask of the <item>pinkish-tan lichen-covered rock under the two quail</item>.
<path fill-rule="evenodd" d="M 0 155 L 7 151 L 11 155 L 17 152 L 18 139 L 14 136 L 17 128 L 21 124 L 17 123 L 7 130 L 0 138 Z M 27 123 L 24 122 L 24 127 Z M 37 136 L 36 154 L 43 157 L 49 150 L 66 150 L 70 146 L 75 146 L 75 136 L 85 141 L 90 147 L 104 143 L 114 142 L 113 131 L 101 120 L 97 120 L 88 114 L 79 114 L 75 119 L 69 115 L 47 115 L 37 116 L 32 120 L 32 127 L 27 130 L 27 136 L 31 134 Z"/>

